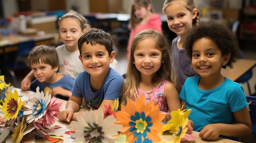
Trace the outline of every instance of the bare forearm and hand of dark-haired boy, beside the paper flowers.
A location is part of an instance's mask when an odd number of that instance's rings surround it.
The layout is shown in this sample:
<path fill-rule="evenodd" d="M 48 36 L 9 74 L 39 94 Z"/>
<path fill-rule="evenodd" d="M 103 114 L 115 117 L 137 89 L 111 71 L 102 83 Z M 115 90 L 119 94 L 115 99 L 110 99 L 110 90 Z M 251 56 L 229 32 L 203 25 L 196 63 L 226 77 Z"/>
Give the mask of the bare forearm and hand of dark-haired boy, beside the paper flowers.
<path fill-rule="evenodd" d="M 67 101 L 66 109 L 61 111 L 58 116 L 59 121 L 70 122 L 71 119 L 77 121 L 76 116 L 73 116 L 73 114 L 79 111 L 82 102 L 83 97 L 71 95 L 70 99 Z"/>

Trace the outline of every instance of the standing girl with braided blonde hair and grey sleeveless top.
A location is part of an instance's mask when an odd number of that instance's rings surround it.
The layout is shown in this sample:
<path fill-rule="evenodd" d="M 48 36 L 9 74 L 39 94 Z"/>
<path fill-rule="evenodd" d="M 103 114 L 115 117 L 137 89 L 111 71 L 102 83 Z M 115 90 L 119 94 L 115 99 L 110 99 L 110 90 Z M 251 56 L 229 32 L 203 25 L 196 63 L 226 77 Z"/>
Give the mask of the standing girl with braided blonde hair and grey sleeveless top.
<path fill-rule="evenodd" d="M 199 11 L 195 8 L 193 0 L 165 0 L 163 12 L 169 29 L 178 35 L 172 41 L 171 58 L 172 68 L 177 75 L 178 93 L 180 93 L 186 78 L 198 76 L 182 45 L 186 31 L 199 24 Z"/>

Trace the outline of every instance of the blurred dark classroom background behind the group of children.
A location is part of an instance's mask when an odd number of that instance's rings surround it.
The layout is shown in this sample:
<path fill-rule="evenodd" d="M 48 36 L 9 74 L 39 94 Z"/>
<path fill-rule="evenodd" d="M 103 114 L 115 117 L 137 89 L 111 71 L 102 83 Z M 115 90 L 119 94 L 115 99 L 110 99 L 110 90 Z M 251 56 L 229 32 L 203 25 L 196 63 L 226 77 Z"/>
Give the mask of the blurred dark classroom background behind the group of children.
<path fill-rule="evenodd" d="M 118 71 L 122 75 L 125 74 L 131 2 L 132 0 L 0 0 L 0 73 L 5 75 L 7 83 L 13 84 L 13 75 L 5 70 L 5 65 L 15 62 L 19 48 L 18 40 L 32 39 L 36 41 L 36 45 L 60 45 L 56 22 L 61 15 L 73 9 L 84 15 L 92 27 L 103 29 L 112 35 L 114 49 L 117 52 Z M 163 33 L 171 41 L 176 35 L 168 29 L 166 18 L 162 13 L 164 0 L 151 0 L 151 2 L 155 12 L 161 14 Z M 237 34 L 243 58 L 256 60 L 256 0 L 194 0 L 194 2 L 200 10 L 200 20 L 214 18 L 227 24 Z M 22 26 L 23 30 L 20 30 Z M 16 40 L 12 41 L 8 38 Z M 19 88 L 20 81 L 30 69 L 23 66 L 16 67 L 12 71 L 16 75 L 16 86 Z M 255 67 L 252 68 L 252 74 L 245 82 L 240 84 L 246 95 L 256 95 Z M 255 134 L 252 134 L 244 142 L 250 143 L 255 139 Z"/>

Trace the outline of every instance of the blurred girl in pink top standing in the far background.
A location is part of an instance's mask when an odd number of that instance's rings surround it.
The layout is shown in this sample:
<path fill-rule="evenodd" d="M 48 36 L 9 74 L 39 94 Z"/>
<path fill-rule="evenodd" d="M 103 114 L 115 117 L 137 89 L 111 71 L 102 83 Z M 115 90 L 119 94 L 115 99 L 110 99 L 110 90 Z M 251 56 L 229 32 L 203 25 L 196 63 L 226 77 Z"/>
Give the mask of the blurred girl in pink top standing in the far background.
<path fill-rule="evenodd" d="M 127 59 L 130 58 L 130 45 L 136 33 L 144 29 L 153 29 L 162 32 L 160 15 L 153 13 L 150 0 L 134 0 L 132 3 L 129 21 L 130 36 L 127 47 Z"/>

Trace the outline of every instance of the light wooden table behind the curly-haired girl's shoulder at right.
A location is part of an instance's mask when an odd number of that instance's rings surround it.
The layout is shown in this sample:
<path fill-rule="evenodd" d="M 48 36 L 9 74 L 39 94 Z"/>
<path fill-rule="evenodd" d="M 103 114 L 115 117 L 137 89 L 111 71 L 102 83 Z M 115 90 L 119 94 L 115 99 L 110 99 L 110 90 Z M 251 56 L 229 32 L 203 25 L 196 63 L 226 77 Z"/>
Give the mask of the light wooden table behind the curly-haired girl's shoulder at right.
<path fill-rule="evenodd" d="M 237 81 L 242 77 L 247 71 L 251 70 L 256 66 L 256 60 L 253 59 L 238 59 L 234 64 L 234 68 L 225 68 L 221 70 L 221 74 L 224 77 L 232 81 Z"/>

